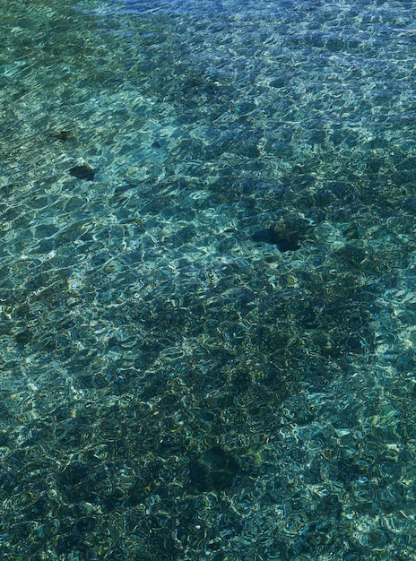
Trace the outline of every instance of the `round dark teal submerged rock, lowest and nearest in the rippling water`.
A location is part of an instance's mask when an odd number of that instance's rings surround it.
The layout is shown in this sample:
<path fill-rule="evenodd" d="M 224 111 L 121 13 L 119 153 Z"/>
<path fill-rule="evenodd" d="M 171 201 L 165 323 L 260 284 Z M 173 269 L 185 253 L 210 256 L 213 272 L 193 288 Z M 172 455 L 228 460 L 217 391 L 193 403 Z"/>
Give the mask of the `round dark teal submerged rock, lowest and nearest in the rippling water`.
<path fill-rule="evenodd" d="M 213 446 L 189 465 L 192 483 L 200 491 L 220 491 L 230 486 L 238 474 L 234 456 L 221 446 Z"/>

